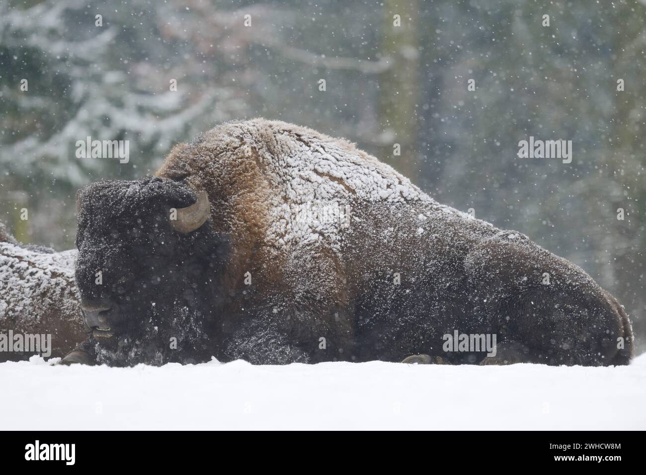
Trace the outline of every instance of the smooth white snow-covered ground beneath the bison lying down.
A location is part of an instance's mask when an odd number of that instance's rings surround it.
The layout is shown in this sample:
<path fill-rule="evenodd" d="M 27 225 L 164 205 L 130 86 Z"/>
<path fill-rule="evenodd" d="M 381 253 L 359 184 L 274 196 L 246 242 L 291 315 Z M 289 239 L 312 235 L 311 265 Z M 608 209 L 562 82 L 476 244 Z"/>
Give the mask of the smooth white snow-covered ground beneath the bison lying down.
<path fill-rule="evenodd" d="M 244 361 L 0 364 L 2 429 L 646 429 L 646 354 L 610 368 Z"/>

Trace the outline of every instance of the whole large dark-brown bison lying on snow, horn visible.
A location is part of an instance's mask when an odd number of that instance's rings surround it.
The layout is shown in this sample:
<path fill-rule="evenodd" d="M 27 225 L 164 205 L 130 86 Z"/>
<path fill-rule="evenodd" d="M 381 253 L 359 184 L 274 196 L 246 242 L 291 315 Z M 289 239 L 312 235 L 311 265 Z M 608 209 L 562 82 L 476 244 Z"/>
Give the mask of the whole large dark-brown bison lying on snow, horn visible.
<path fill-rule="evenodd" d="M 157 176 L 93 183 L 78 204 L 76 281 L 93 331 L 65 361 L 632 355 L 625 311 L 583 270 L 306 128 L 227 123 L 175 147 Z M 174 223 L 188 207 L 209 219 Z M 349 219 L 322 218 L 335 207 Z M 495 358 L 444 352 L 453 332 L 495 334 Z"/>

